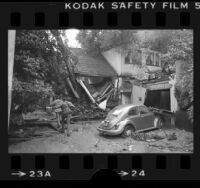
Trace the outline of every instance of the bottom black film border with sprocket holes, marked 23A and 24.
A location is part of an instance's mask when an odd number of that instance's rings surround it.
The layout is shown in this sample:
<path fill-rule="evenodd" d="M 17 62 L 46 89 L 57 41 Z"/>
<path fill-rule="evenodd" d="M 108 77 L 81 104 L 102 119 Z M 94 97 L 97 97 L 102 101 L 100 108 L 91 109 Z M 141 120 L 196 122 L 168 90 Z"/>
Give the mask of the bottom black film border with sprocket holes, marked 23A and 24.
<path fill-rule="evenodd" d="M 154 156 L 139 154 L 80 154 L 80 156 L 25 154 L 10 157 L 10 178 L 95 179 L 108 175 L 111 178 L 124 180 L 184 179 L 190 170 L 194 169 L 194 165 L 191 156 L 186 154 L 177 154 L 177 156 L 163 154 Z M 22 175 L 12 176 L 13 172 L 22 173 Z M 46 173 L 48 175 L 45 175 Z M 197 177 L 198 175 L 193 176 L 194 179 Z"/>

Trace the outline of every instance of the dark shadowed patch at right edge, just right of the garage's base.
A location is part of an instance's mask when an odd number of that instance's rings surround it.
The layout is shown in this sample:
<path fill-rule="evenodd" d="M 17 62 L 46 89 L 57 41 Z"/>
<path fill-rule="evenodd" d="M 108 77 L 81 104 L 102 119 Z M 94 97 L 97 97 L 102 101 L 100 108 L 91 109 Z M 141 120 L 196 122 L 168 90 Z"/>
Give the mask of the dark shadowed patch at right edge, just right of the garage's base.
<path fill-rule="evenodd" d="M 190 122 L 188 115 L 185 111 L 177 111 L 175 113 L 175 117 L 176 128 L 193 132 L 193 124 Z"/>

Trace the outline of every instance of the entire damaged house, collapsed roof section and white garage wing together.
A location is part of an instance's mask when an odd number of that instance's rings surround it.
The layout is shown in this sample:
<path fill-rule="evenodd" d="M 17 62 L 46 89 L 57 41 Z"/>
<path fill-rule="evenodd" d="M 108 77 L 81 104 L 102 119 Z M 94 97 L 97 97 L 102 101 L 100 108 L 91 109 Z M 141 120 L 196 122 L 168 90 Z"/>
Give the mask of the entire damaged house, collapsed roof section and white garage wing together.
<path fill-rule="evenodd" d="M 120 46 L 91 55 L 72 48 L 77 57 L 77 81 L 90 100 L 106 109 L 110 98 L 119 104 L 144 104 L 177 110 L 174 84 L 162 71 L 161 54 L 141 48 L 125 51 Z"/>

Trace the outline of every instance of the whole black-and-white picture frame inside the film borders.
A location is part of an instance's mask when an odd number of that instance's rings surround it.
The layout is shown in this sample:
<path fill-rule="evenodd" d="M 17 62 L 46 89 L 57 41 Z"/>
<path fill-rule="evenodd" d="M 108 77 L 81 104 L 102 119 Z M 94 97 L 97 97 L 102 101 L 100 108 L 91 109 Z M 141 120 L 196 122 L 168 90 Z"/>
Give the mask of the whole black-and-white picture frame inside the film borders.
<path fill-rule="evenodd" d="M 9 153 L 193 153 L 193 30 L 9 30 Z"/>

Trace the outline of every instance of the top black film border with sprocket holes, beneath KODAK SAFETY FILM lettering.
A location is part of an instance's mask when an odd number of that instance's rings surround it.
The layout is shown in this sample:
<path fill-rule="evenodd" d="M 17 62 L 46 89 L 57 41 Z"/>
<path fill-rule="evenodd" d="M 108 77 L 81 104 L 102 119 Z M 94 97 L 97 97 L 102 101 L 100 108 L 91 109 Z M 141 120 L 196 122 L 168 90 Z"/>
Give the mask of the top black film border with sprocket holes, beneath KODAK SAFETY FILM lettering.
<path fill-rule="evenodd" d="M 108 4 L 109 2 L 105 2 Z M 160 4 L 161 2 L 157 2 Z M 189 4 L 192 2 L 188 2 Z M 0 21 L 9 28 L 188 28 L 198 27 L 200 11 L 187 10 L 65 10 L 65 3 L 5 3 Z"/>

